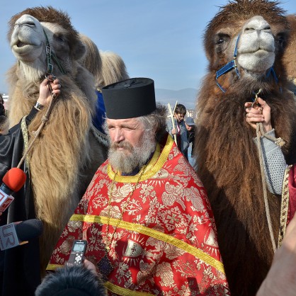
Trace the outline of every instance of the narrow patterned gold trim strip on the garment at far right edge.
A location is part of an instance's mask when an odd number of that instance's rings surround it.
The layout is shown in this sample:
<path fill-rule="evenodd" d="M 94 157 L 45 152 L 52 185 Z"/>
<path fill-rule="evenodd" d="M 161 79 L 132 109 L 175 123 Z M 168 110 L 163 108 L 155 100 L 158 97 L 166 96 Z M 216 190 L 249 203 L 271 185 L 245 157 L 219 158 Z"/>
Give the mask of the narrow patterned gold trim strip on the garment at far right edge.
<path fill-rule="evenodd" d="M 282 201 L 280 203 L 280 229 L 278 231 L 278 248 L 283 242 L 285 237 L 285 229 L 287 228 L 288 210 L 289 210 L 289 174 L 291 166 L 285 169 L 283 188 L 282 188 Z"/>

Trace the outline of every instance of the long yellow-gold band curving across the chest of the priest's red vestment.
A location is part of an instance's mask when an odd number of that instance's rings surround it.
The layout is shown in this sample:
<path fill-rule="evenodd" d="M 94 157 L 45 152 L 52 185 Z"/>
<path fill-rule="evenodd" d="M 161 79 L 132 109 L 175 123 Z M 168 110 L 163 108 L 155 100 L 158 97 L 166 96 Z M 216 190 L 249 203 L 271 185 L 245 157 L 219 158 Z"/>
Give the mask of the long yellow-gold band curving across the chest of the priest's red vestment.
<path fill-rule="evenodd" d="M 176 237 L 172 237 L 169 234 L 164 234 L 163 232 L 159 232 L 156 229 L 152 229 L 141 224 L 126 222 L 123 220 L 121 220 L 118 223 L 118 219 L 111 218 L 111 217 L 110 218 L 104 217 L 104 216 L 96 216 L 96 215 L 72 215 L 69 221 L 81 221 L 81 222 L 91 222 L 91 223 L 96 222 L 99 224 L 108 224 L 108 220 L 109 220 L 109 225 L 112 225 L 112 226 L 117 225 L 118 228 L 135 231 L 140 234 L 145 234 L 149 237 L 153 237 L 154 239 L 159 239 L 160 241 L 164 241 L 167 244 L 176 246 L 179 249 L 182 249 L 183 251 L 186 251 L 187 253 L 195 256 L 196 258 L 199 258 L 200 260 L 204 261 L 208 265 L 216 268 L 217 271 L 224 273 L 224 266 L 222 262 L 218 261 L 215 258 L 212 258 L 209 254 L 206 254 L 204 251 L 198 248 L 195 248 L 195 246 L 191 246 L 190 244 L 187 244 L 185 241 L 176 239 Z"/>

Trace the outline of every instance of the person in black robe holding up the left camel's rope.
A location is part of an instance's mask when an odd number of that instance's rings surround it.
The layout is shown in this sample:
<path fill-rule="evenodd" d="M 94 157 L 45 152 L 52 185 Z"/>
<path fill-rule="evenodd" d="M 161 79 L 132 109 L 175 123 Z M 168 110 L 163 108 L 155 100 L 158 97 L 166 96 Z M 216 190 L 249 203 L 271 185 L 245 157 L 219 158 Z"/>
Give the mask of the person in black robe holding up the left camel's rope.
<path fill-rule="evenodd" d="M 40 94 L 36 105 L 18 125 L 11 127 L 7 135 L 0 135 L 0 177 L 12 167 L 18 166 L 25 142 L 28 142 L 26 127 L 38 111 L 48 105 L 52 93 L 59 95 L 59 80 L 45 79 L 40 84 Z M 42 161 L 42 159 L 40 159 Z M 17 193 L 8 209 L 1 213 L 0 226 L 35 218 L 33 195 L 30 188 L 30 173 L 25 161 L 21 165 L 27 178 L 25 185 Z M 35 288 L 40 284 L 39 242 L 38 237 L 31 239 L 28 244 L 0 251 L 0 295 L 34 295 Z"/>

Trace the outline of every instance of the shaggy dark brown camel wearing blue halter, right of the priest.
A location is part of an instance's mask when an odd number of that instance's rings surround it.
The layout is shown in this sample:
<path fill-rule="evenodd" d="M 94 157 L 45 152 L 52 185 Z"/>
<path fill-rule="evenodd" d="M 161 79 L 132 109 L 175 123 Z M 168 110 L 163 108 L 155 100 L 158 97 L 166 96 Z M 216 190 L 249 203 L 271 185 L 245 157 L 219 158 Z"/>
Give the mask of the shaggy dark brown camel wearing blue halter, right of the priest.
<path fill-rule="evenodd" d="M 239 35 L 239 40 L 237 38 Z M 296 161 L 296 108 L 288 91 L 283 52 L 289 23 L 278 2 L 237 0 L 220 8 L 207 25 L 204 45 L 208 74 L 197 99 L 196 170 L 207 189 L 232 295 L 255 295 L 273 258 L 263 201 L 261 172 L 244 103 L 259 96 L 272 110 L 277 137 L 285 141 L 288 163 Z M 237 71 L 216 72 L 234 59 Z M 271 70 L 275 70 L 275 75 Z M 276 81 L 278 79 L 278 82 Z M 268 195 L 275 243 L 280 196 Z"/>

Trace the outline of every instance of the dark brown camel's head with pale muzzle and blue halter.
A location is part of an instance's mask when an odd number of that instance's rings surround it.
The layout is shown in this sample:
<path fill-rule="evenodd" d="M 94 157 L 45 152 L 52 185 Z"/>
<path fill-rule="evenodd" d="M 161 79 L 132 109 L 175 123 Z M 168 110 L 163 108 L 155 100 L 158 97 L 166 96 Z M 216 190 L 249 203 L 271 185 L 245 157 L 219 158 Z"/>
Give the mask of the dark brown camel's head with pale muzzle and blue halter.
<path fill-rule="evenodd" d="M 266 89 L 283 75 L 289 24 L 276 1 L 229 1 L 207 25 L 204 45 L 217 86 Z M 266 84 L 267 82 L 267 84 Z"/>

